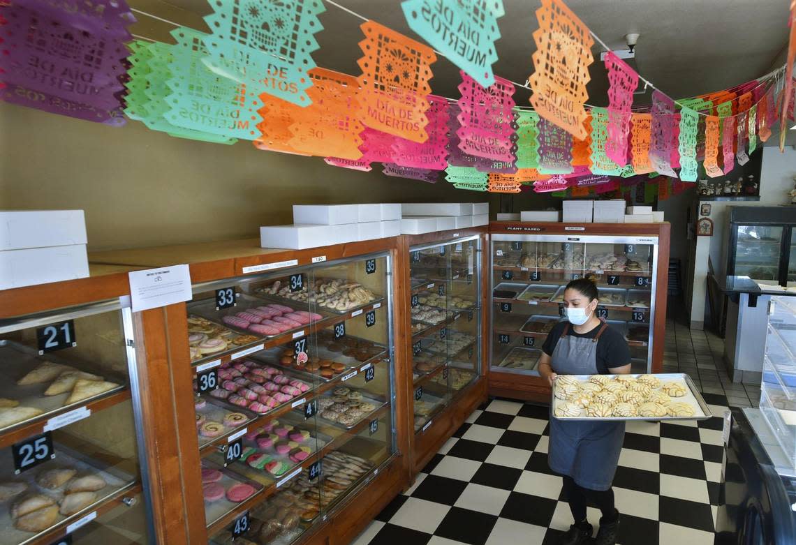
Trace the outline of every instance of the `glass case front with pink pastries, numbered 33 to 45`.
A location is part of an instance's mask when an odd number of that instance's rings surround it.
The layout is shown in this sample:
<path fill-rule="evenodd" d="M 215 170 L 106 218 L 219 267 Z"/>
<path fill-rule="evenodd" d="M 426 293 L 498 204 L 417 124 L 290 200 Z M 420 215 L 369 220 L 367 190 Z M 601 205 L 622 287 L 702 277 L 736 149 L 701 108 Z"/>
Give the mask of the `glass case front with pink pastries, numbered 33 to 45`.
<path fill-rule="evenodd" d="M 383 252 L 193 287 L 212 543 L 291 543 L 395 454 L 391 269 Z"/>

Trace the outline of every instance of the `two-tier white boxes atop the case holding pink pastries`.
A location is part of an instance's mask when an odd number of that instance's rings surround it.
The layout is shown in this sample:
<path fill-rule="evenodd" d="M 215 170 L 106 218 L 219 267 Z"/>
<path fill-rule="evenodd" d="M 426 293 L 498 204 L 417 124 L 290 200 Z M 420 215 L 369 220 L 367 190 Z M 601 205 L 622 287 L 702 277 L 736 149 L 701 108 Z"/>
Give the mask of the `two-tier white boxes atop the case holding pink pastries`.
<path fill-rule="evenodd" d="M 400 204 L 294 204 L 293 224 L 259 228 L 260 246 L 303 250 L 400 235 Z"/>

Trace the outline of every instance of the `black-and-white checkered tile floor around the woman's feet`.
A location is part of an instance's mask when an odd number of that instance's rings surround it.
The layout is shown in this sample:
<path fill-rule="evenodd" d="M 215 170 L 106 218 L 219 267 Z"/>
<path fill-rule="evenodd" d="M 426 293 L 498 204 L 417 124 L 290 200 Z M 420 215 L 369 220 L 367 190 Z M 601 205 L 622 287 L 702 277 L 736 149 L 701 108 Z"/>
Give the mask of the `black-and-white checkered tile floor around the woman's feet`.
<path fill-rule="evenodd" d="M 705 399 L 714 415 L 724 414 L 724 395 Z M 628 422 L 614 480 L 618 543 L 712 545 L 721 429 L 721 418 Z M 547 450 L 547 407 L 495 399 L 353 543 L 553 545 L 572 517 Z M 588 516 L 596 531 L 599 511 L 590 507 Z"/>

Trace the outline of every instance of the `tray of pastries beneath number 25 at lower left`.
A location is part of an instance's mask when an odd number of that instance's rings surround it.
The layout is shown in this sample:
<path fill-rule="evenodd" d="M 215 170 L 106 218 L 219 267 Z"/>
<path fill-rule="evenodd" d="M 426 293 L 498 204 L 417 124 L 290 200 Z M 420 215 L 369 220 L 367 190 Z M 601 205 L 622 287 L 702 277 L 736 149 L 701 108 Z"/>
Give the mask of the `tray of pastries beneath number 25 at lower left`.
<path fill-rule="evenodd" d="M 18 484 L 7 492 L 0 510 L 0 543 L 53 543 L 67 528 L 85 516 L 114 508 L 123 496 L 134 496 L 141 486 L 130 473 L 80 454 L 59 442 L 56 457 L 14 475 L 10 449 L 0 451 L 4 485 Z M 60 507 L 59 507 L 60 504 Z M 14 512 L 20 513 L 14 515 Z"/>

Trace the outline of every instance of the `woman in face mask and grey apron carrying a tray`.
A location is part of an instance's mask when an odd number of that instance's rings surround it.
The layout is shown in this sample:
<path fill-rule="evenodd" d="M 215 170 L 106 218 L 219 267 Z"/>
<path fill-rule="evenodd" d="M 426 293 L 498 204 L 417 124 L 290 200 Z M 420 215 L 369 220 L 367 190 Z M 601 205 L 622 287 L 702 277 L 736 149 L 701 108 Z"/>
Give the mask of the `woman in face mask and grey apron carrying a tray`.
<path fill-rule="evenodd" d="M 539 372 L 552 386 L 558 375 L 624 375 L 630 373 L 630 348 L 622 333 L 596 316 L 597 286 L 579 278 L 567 284 L 564 306 L 567 320 L 552 329 L 544 341 Z M 594 543 L 614 545 L 619 512 L 614 507 L 614 480 L 625 422 L 564 421 L 550 413 L 550 469 L 564 477 L 569 508 L 575 524 L 561 539 L 578 545 L 591 539 L 586 503 L 591 499 L 603 516 Z"/>

